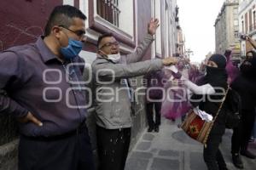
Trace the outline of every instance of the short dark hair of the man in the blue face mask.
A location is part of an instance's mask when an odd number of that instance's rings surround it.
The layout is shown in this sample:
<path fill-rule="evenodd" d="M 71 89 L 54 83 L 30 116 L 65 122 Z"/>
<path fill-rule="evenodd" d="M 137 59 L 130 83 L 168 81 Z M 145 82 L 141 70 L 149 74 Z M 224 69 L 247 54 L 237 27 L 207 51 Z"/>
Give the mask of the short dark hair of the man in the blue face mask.
<path fill-rule="evenodd" d="M 73 18 L 87 19 L 78 8 L 70 5 L 56 6 L 49 15 L 49 20 L 44 28 L 44 36 L 49 36 L 53 26 L 67 26 L 68 28 L 73 24 Z"/>

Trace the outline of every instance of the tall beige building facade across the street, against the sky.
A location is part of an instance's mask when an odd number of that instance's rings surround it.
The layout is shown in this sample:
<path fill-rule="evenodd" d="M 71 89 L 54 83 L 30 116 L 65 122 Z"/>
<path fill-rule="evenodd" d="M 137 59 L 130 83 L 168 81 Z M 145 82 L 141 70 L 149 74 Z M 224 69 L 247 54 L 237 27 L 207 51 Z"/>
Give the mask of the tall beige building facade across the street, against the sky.
<path fill-rule="evenodd" d="M 239 0 L 226 0 L 214 24 L 216 53 L 232 49 L 233 59 L 240 57 L 238 5 Z"/>

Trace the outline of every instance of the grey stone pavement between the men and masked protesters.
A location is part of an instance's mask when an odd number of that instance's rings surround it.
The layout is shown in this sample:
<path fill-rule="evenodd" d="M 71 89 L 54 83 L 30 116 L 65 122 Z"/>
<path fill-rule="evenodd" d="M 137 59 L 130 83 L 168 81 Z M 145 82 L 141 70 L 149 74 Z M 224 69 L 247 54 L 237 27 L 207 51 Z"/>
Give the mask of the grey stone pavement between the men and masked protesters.
<path fill-rule="evenodd" d="M 144 130 L 141 138 L 129 153 L 125 170 L 207 170 L 203 161 L 203 146 L 190 139 L 177 127 L 179 122 L 162 118 L 159 133 Z M 227 130 L 220 146 L 230 170 L 236 170 L 230 155 L 231 131 Z M 256 154 L 256 143 L 250 144 Z M 246 170 L 256 169 L 256 160 L 242 156 Z"/>

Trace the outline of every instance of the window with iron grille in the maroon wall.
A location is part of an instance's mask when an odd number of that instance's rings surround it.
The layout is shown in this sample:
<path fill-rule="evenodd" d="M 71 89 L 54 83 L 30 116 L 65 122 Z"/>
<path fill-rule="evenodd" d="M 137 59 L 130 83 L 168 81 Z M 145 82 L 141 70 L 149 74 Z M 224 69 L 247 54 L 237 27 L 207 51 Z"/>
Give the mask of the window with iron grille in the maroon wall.
<path fill-rule="evenodd" d="M 97 0 L 97 14 L 104 20 L 119 26 L 119 0 Z"/>

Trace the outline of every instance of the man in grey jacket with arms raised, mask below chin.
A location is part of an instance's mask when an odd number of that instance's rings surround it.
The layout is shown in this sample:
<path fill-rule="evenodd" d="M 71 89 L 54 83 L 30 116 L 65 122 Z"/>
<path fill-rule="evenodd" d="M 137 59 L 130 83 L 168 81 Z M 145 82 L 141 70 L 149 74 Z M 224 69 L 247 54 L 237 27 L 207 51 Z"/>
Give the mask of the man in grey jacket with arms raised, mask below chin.
<path fill-rule="evenodd" d="M 148 24 L 148 34 L 134 53 L 119 54 L 119 42 L 112 34 L 98 38 L 98 54 L 92 64 L 96 86 L 97 150 L 101 170 L 123 170 L 131 140 L 131 100 L 129 77 L 159 71 L 177 60 L 153 59 L 140 61 L 159 26 L 158 20 Z"/>

